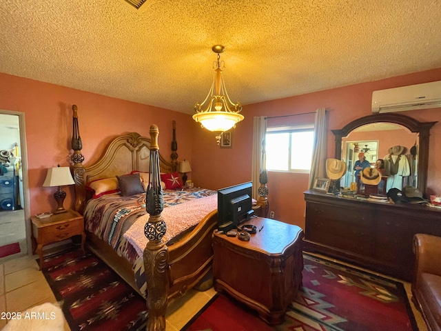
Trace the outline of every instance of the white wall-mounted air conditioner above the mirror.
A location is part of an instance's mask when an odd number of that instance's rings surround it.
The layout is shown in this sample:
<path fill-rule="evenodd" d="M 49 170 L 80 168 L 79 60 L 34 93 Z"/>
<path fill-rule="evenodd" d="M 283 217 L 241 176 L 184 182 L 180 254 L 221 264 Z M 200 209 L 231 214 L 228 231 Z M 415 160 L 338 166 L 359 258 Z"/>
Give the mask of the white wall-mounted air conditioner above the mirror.
<path fill-rule="evenodd" d="M 372 112 L 403 112 L 441 107 L 441 81 L 372 92 Z"/>

